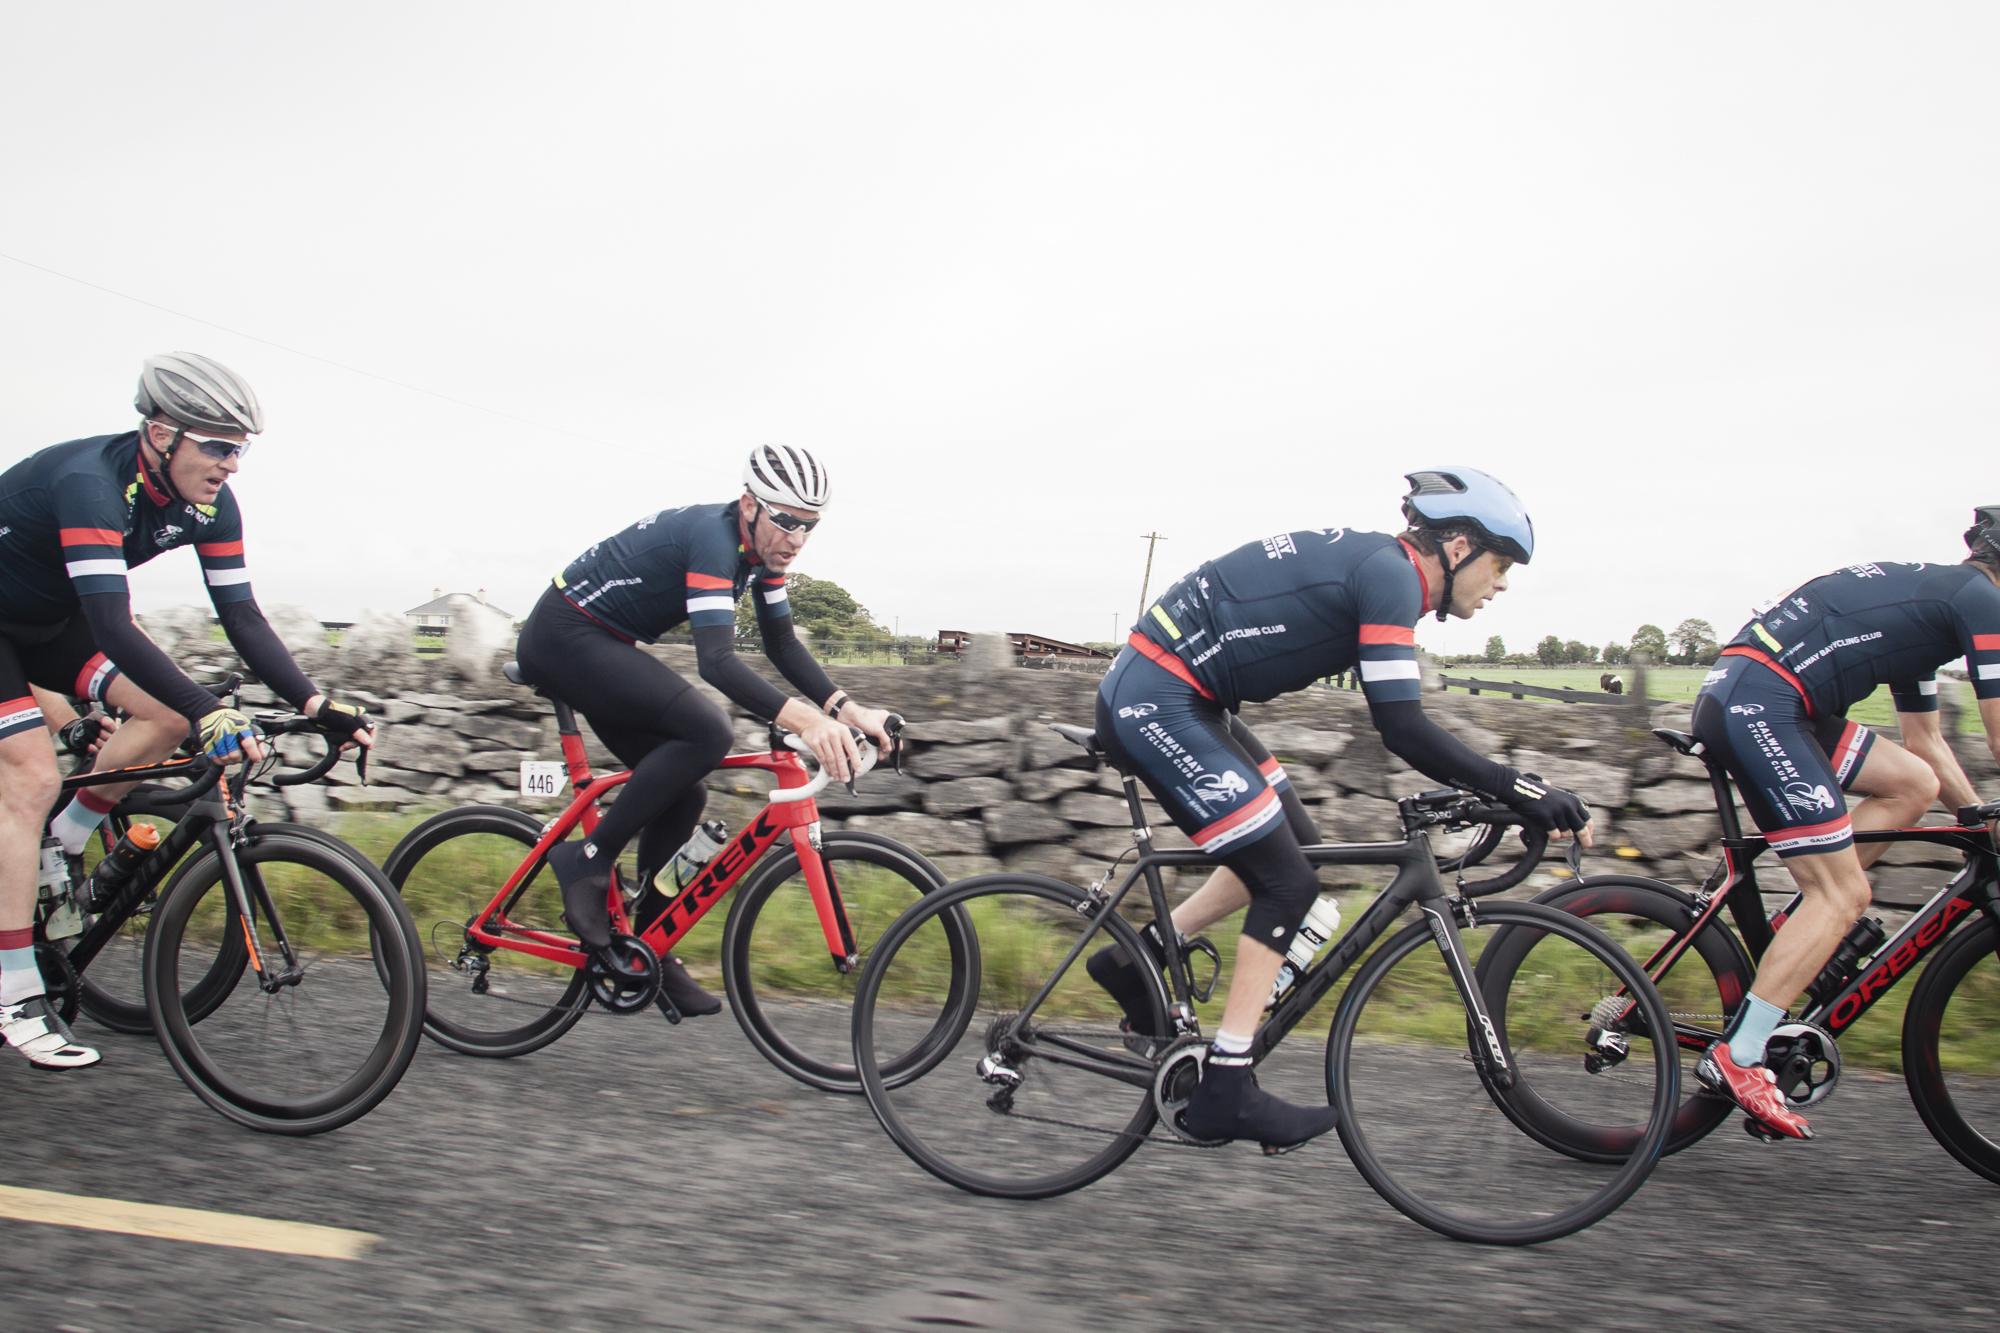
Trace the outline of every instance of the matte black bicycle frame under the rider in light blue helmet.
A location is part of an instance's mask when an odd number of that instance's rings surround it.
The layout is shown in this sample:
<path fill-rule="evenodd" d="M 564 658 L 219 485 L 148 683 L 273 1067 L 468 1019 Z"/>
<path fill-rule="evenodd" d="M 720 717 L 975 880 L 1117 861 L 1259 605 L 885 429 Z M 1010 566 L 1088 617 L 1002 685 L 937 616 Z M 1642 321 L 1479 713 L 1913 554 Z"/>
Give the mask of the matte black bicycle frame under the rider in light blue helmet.
<path fill-rule="evenodd" d="M 1070 971 L 1090 939 L 1104 927 L 1104 921 L 1118 911 L 1118 905 L 1126 899 L 1140 879 L 1146 881 L 1148 897 L 1152 899 L 1154 921 L 1170 921 L 1172 911 L 1166 901 L 1166 883 L 1160 879 L 1162 867 L 1208 867 L 1216 869 L 1222 865 L 1214 857 L 1198 851 L 1152 851 L 1152 831 L 1146 827 L 1144 811 L 1138 797 L 1138 779 L 1124 775 L 1126 803 L 1132 811 L 1132 833 L 1134 843 L 1140 849 L 1138 863 L 1126 873 L 1118 889 L 1110 895 L 1096 891 L 1094 897 L 1100 899 L 1096 911 L 1090 915 L 1090 925 L 1078 937 L 1076 945 L 1062 963 L 1052 971 L 1050 979 L 1042 985 L 1032 1001 L 1028 1001 L 1020 1015 L 1014 1019 L 1012 1037 L 1024 1047 L 1032 1047 L 1042 1059 L 1052 1059 L 1058 1063 L 1088 1067 L 1098 1073 L 1106 1073 L 1124 1083 L 1134 1083 L 1138 1087 L 1150 1087 L 1154 1075 L 1154 1061 L 1124 1055 L 1118 1051 L 1102 1051 L 1086 1043 L 1074 1043 L 1060 1039 L 1052 1033 L 1036 1033 L 1024 1037 L 1028 1019 L 1040 1009 L 1042 1001 L 1056 989 L 1056 983 Z M 1430 835 L 1424 833 L 1424 825 L 1416 815 L 1414 803 L 1408 799 L 1398 803 L 1404 815 L 1406 835 L 1398 843 L 1320 843 L 1314 847 L 1304 847 L 1306 861 L 1314 867 L 1320 865 L 1392 865 L 1396 867 L 1396 879 L 1390 881 L 1374 903 L 1348 927 L 1338 941 L 1298 979 L 1292 993 L 1286 995 L 1258 1027 L 1256 1037 L 1250 1041 L 1250 1055 L 1262 1061 L 1270 1051 L 1284 1041 L 1284 1037 L 1298 1027 L 1298 1023 L 1312 1011 L 1314 1005 L 1340 981 L 1340 977 L 1360 961 L 1368 947 L 1374 945 L 1390 929 L 1390 925 L 1404 913 L 1412 903 L 1428 919 L 1430 933 L 1438 941 L 1438 951 L 1446 959 L 1446 967 L 1452 973 L 1452 983 L 1458 987 L 1458 995 L 1466 1005 L 1466 1015 L 1484 1033 L 1484 1053 L 1472 1047 L 1474 1059 L 1482 1059 L 1484 1075 L 1494 1081 L 1496 1087 L 1508 1089 L 1514 1085 L 1514 1067 L 1500 1045 L 1500 1035 L 1494 1031 L 1494 1023 L 1486 1013 L 1486 999 L 1480 995 L 1478 983 L 1474 981 L 1474 965 L 1466 955 L 1464 939 L 1458 935 L 1458 927 L 1464 921 L 1470 925 L 1474 919 L 1474 907 L 1468 899 L 1452 899 L 1444 889 L 1444 879 L 1438 875 L 1438 863 L 1430 853 Z M 1172 985 L 1172 1021 L 1178 1035 L 1198 1033 L 1198 1023 L 1194 1017 L 1194 983 L 1188 971 L 1188 961 L 1180 949 L 1166 951 L 1166 973 Z M 1056 1055 L 1040 1043 L 1060 1045 L 1066 1055 Z"/>

